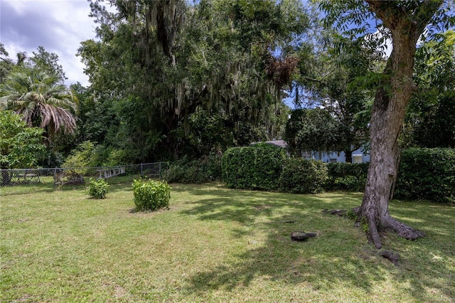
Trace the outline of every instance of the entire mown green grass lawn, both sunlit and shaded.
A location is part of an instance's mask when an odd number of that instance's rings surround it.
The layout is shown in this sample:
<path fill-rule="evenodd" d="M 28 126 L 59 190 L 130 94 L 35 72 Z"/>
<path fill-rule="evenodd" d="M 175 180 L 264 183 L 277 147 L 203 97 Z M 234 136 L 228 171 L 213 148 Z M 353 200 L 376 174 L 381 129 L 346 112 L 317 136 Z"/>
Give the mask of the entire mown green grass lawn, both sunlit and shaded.
<path fill-rule="evenodd" d="M 131 179 L 0 196 L 1 302 L 454 302 L 455 207 L 394 202 L 427 237 L 385 235 L 321 213 L 361 194 L 293 195 L 171 184 L 171 204 L 133 211 Z M 291 232 L 318 233 L 305 243 Z"/>

